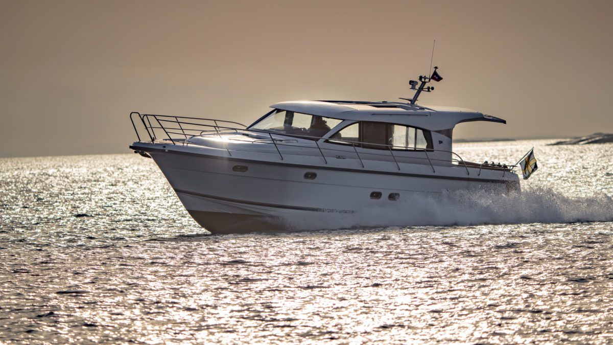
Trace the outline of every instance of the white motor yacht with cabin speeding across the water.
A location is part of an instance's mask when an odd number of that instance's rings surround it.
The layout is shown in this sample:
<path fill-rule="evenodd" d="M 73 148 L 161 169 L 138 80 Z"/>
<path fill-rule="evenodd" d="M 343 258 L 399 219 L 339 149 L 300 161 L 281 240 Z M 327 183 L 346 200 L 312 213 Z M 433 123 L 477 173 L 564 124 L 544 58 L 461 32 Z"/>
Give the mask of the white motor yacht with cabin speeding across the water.
<path fill-rule="evenodd" d="M 153 158 L 189 214 L 213 234 L 292 230 L 284 220 L 296 215 L 375 206 L 403 212 L 400 201 L 414 193 L 519 192 L 516 165 L 471 163 L 452 152 L 458 123 L 504 120 L 416 103 L 440 79 L 435 68 L 419 86 L 411 80 L 416 94 L 406 103 L 277 103 L 249 126 L 132 112 L 139 141 L 130 147 Z"/>

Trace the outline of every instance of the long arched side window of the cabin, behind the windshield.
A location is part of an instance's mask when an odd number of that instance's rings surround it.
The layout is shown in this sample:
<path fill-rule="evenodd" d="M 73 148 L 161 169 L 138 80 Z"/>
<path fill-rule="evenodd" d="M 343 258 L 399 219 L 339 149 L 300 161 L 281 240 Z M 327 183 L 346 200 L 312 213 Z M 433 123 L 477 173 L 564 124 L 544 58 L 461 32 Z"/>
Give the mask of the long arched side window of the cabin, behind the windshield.
<path fill-rule="evenodd" d="M 337 140 L 335 140 L 337 139 Z M 327 142 L 346 144 L 358 141 L 358 147 L 379 150 L 432 150 L 432 134 L 428 130 L 384 122 L 356 122 L 330 136 Z"/>

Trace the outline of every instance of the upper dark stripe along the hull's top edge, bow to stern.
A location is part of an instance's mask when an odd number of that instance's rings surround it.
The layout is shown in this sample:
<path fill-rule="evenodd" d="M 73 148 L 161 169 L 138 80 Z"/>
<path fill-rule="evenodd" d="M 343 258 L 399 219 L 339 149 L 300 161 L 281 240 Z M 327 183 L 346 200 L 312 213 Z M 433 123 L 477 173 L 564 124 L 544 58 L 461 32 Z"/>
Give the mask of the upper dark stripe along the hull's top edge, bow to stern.
<path fill-rule="evenodd" d="M 292 166 L 294 168 L 306 168 L 306 169 L 322 169 L 322 170 L 334 170 L 334 171 L 350 171 L 350 172 L 361 172 L 362 174 L 379 174 L 379 175 L 394 175 L 394 176 L 407 176 L 407 177 L 422 177 L 424 179 L 443 179 L 443 180 L 460 180 L 460 181 L 470 181 L 470 182 L 485 182 L 485 183 L 495 183 L 495 184 L 508 184 L 514 183 L 516 181 L 513 180 L 490 180 L 490 179 L 477 179 L 473 177 L 459 177 L 459 176 L 436 176 L 436 175 L 424 175 L 424 174 L 411 174 L 409 172 L 394 172 L 394 171 L 376 171 L 376 170 L 361 170 L 361 169 L 352 169 L 352 168 L 337 168 L 335 166 L 319 166 L 319 165 L 304 165 L 304 164 L 295 164 L 295 163 L 284 163 L 281 161 L 261 161 L 261 160 L 249 160 L 246 158 L 234 158 L 234 157 L 219 157 L 215 155 L 207 155 L 206 153 L 194 153 L 194 152 L 182 152 L 175 150 L 165 150 L 165 149 L 153 149 L 151 147 L 141 147 L 130 145 L 130 149 L 132 150 L 142 150 L 144 152 L 159 152 L 159 153 L 172 153 L 175 155 L 186 155 L 186 156 L 194 156 L 194 157 L 206 157 L 213 158 L 218 160 L 227 160 L 227 161 L 240 161 L 245 163 L 259 163 L 265 165 L 281 165 L 281 166 Z"/>

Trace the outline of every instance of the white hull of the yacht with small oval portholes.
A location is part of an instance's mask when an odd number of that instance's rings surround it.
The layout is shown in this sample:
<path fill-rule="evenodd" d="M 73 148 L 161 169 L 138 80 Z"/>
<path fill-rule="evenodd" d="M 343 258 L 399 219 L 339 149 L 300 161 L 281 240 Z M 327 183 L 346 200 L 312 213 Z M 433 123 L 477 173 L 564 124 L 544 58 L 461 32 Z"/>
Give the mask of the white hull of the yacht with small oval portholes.
<path fill-rule="evenodd" d="M 287 220 L 319 217 L 322 212 L 351 215 L 369 207 L 402 212 L 402 203 L 389 199 L 392 193 L 402 200 L 414 193 L 471 188 L 519 190 L 516 174 L 474 168 L 467 172 L 456 165 L 334 158 L 324 163 L 321 156 L 284 155 L 281 160 L 275 153 L 232 151 L 230 157 L 223 149 L 134 145 L 151 155 L 189 214 L 211 233 L 287 230 Z M 247 171 L 233 170 L 236 166 Z M 305 179 L 306 172 L 316 173 L 316 178 Z M 371 198 L 373 192 L 381 197 Z M 319 226 L 302 222 L 299 228 Z"/>

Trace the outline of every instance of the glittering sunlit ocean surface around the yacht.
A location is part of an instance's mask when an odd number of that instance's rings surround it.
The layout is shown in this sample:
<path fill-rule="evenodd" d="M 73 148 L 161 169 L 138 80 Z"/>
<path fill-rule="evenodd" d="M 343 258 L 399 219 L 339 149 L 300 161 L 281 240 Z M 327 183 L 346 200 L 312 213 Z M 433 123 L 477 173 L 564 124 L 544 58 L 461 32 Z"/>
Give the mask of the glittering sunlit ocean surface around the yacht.
<path fill-rule="evenodd" d="M 613 343 L 613 144 L 547 142 L 455 145 L 535 146 L 520 195 L 221 236 L 134 153 L 2 158 L 0 343 Z"/>

